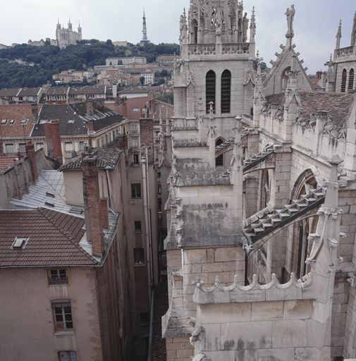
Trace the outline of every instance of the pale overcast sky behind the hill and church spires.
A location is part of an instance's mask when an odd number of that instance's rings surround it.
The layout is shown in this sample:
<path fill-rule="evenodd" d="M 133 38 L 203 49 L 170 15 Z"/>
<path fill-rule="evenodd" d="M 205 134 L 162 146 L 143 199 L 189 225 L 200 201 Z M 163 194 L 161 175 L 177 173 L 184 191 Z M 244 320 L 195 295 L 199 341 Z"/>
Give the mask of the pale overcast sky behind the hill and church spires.
<path fill-rule="evenodd" d="M 4 1 L 1 8 L 0 43 L 27 42 L 28 39 L 55 38 L 57 18 L 68 16 L 73 26 L 82 25 L 86 39 L 139 42 L 142 37 L 142 8 L 145 6 L 147 31 L 154 43 L 178 42 L 179 16 L 189 0 L 16 0 Z M 245 0 L 250 16 L 257 16 L 257 48 L 266 63 L 275 59 L 279 44 L 285 43 L 286 17 L 291 0 Z M 350 45 L 355 0 L 294 0 L 295 44 L 308 73 L 324 68 L 336 43 L 338 21 L 343 19 L 342 46 Z M 67 26 L 67 25 L 66 25 Z"/>

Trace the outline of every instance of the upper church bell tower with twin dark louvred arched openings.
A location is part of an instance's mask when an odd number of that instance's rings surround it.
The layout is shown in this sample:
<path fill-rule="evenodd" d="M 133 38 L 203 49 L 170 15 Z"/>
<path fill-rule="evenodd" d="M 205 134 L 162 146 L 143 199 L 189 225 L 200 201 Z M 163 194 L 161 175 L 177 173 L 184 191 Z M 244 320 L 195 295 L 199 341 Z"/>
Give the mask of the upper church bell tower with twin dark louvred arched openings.
<path fill-rule="evenodd" d="M 174 73 L 176 125 L 189 126 L 213 103 L 216 133 L 226 139 L 238 114 L 250 114 L 253 95 L 254 13 L 238 0 L 191 0 L 180 17 L 180 58 Z M 205 122 L 207 123 L 207 121 Z"/>

